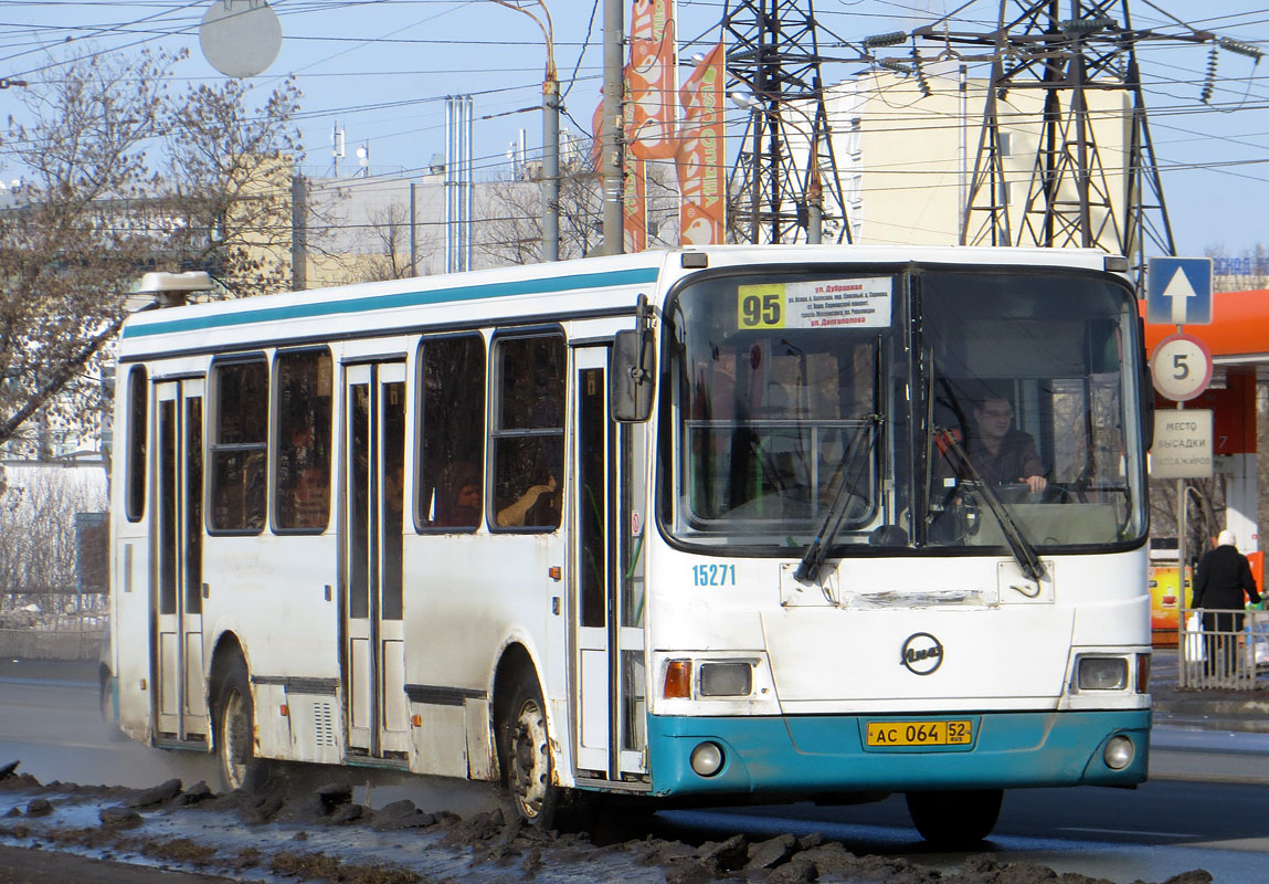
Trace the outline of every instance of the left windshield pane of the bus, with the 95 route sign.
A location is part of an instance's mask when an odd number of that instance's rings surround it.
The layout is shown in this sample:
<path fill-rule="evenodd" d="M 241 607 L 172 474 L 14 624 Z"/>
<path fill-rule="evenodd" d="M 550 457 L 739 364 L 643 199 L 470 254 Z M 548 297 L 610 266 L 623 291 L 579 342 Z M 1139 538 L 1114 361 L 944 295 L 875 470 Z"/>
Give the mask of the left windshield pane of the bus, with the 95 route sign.
<path fill-rule="evenodd" d="M 681 291 L 667 332 L 676 535 L 787 549 L 834 509 L 845 532 L 882 518 L 878 384 L 896 286 L 750 273 Z"/>

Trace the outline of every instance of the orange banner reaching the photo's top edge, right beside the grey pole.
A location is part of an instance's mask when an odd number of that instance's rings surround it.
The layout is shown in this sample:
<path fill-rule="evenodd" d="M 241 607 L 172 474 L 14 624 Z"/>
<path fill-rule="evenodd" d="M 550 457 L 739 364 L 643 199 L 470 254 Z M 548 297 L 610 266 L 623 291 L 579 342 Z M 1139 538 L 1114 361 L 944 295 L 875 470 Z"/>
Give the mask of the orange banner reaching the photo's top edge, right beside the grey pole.
<path fill-rule="evenodd" d="M 641 160 L 674 156 L 674 0 L 633 0 L 631 62 L 626 69 L 631 121 L 629 152 Z"/>

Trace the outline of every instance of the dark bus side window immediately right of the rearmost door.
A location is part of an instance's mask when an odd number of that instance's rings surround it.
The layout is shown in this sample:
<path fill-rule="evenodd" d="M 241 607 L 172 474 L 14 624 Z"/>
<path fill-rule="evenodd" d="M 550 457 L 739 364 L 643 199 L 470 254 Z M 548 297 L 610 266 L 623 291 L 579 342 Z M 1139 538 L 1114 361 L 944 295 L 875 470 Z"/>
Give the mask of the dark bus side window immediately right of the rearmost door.
<path fill-rule="evenodd" d="M 268 474 L 268 363 L 263 358 L 221 362 L 214 384 L 211 528 L 259 533 L 264 527 Z"/>

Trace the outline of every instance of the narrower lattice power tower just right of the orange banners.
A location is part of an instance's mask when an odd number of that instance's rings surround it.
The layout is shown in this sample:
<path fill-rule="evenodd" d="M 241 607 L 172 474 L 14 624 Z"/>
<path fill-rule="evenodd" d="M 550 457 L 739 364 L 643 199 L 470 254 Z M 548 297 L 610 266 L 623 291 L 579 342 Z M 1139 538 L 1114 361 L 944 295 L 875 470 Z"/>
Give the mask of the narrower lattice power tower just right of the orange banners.
<path fill-rule="evenodd" d="M 811 6 L 727 0 L 723 10 L 727 74 L 749 90 L 741 93 L 749 122 L 727 189 L 750 243 L 820 241 L 821 230 L 836 225 L 831 238 L 850 241 Z"/>

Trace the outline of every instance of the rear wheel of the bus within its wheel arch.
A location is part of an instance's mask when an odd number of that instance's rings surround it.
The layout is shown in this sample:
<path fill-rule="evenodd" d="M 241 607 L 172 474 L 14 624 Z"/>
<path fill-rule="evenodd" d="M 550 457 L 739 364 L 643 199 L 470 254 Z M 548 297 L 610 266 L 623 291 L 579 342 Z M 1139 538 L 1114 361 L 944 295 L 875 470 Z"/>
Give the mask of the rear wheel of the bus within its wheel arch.
<path fill-rule="evenodd" d="M 212 748 L 220 761 L 221 785 L 228 791 L 256 791 L 263 786 L 265 767 L 256 756 L 255 705 L 246 655 L 232 634 L 216 643 L 208 692 Z"/>

